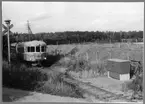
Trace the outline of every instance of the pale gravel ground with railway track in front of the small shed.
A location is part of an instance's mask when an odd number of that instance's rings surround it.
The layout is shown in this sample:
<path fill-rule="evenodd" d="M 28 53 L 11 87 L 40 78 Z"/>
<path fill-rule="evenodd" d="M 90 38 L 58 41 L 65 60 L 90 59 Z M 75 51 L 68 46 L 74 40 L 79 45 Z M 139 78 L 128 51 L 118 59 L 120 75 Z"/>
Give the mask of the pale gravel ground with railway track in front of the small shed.
<path fill-rule="evenodd" d="M 102 102 L 142 102 L 141 99 L 132 99 L 133 91 L 128 89 L 129 81 L 118 81 L 107 77 L 89 79 L 63 78 L 67 83 L 77 86 L 83 97 L 90 102 L 100 100 Z"/>

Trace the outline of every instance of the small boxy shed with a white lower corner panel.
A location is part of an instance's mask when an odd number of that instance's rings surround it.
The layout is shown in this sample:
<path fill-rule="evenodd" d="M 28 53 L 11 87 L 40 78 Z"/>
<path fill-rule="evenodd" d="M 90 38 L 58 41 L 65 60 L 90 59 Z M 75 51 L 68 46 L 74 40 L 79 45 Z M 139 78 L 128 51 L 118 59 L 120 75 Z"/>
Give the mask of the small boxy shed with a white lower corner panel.
<path fill-rule="evenodd" d="M 108 77 L 118 80 L 130 79 L 130 61 L 122 59 L 107 60 Z"/>

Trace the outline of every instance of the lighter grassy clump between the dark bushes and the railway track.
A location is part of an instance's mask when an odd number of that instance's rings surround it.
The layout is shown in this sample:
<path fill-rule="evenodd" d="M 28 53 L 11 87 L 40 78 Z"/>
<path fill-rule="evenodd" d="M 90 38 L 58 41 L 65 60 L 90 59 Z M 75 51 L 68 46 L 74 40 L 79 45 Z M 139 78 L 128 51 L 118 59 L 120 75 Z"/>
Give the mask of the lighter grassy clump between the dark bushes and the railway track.
<path fill-rule="evenodd" d="M 69 96 L 76 98 L 83 97 L 82 93 L 79 92 L 75 85 L 66 83 L 62 80 L 62 73 L 57 73 L 50 70 L 48 76 L 48 81 L 46 81 L 42 87 L 38 88 L 37 91 L 59 96 Z"/>

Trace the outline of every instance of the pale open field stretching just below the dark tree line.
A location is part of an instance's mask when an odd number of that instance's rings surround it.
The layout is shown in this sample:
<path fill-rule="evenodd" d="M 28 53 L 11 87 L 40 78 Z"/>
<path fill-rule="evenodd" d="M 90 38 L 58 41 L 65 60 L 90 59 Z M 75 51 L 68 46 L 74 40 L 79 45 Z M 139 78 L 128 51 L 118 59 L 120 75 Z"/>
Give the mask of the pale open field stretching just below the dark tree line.
<path fill-rule="evenodd" d="M 114 43 L 114 44 L 71 44 L 71 45 L 48 45 L 48 54 L 58 50 L 60 54 L 66 54 L 77 47 L 76 56 L 84 57 L 89 61 L 105 61 L 109 58 L 143 60 L 143 44 Z"/>

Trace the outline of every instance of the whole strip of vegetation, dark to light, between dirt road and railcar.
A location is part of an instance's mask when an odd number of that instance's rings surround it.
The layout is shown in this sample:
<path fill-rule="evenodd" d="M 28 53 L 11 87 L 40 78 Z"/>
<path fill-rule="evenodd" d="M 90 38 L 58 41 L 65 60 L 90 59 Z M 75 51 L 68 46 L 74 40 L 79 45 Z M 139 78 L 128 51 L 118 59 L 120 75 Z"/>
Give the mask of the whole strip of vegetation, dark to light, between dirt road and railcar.
<path fill-rule="evenodd" d="M 28 68 L 25 64 L 11 64 L 3 61 L 3 86 L 38 91 L 60 96 L 82 98 L 82 93 L 75 85 L 62 80 L 63 73 L 49 70 L 47 73 L 36 68 Z"/>

